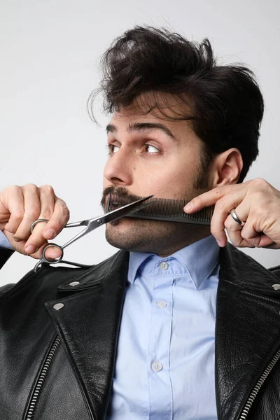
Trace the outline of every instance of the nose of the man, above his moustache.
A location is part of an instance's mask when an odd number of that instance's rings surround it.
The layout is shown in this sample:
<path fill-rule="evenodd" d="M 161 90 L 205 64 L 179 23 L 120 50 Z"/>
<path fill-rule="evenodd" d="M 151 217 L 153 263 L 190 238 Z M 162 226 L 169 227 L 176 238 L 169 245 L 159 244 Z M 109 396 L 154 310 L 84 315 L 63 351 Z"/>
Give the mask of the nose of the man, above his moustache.
<path fill-rule="evenodd" d="M 118 152 L 109 157 L 104 167 L 104 178 L 114 186 L 132 185 L 132 171 L 130 170 L 130 156 L 121 147 Z"/>

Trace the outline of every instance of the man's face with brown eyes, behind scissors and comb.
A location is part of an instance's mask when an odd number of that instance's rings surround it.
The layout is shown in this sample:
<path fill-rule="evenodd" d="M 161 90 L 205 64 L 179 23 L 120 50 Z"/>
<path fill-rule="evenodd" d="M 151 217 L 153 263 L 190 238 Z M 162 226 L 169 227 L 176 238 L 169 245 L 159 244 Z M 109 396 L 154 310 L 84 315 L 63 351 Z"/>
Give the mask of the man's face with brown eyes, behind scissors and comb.
<path fill-rule="evenodd" d="M 113 115 L 107 130 L 104 190 L 111 187 L 115 193 L 191 200 L 209 189 L 207 174 L 201 172 L 202 141 L 188 121 L 141 115 L 132 104 Z M 209 228 L 187 223 L 122 218 L 106 225 L 106 239 L 113 246 L 159 255 L 207 235 Z"/>

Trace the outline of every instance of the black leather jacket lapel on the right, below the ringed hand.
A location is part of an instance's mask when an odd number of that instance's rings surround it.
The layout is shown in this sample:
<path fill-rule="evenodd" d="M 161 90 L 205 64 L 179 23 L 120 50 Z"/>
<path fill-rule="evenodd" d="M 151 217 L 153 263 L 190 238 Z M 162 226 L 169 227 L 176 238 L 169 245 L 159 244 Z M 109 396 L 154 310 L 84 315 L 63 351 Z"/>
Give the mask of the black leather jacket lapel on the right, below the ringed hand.
<path fill-rule="evenodd" d="M 265 267 L 231 244 L 221 248 L 216 311 L 219 420 L 237 420 L 280 346 L 280 292 Z"/>

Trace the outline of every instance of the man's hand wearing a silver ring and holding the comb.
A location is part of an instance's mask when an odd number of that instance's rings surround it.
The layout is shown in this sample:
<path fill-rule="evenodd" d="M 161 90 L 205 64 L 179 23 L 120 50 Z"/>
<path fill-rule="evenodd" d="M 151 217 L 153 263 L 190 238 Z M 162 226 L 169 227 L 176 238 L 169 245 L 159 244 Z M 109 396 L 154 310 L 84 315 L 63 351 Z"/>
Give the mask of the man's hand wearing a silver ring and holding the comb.
<path fill-rule="evenodd" d="M 214 188 L 189 204 L 184 207 L 186 213 L 215 204 L 211 234 L 220 246 L 227 244 L 226 229 L 235 246 L 280 248 L 280 192 L 264 179 Z M 233 220 L 232 209 L 241 221 L 246 221 L 243 227 Z"/>

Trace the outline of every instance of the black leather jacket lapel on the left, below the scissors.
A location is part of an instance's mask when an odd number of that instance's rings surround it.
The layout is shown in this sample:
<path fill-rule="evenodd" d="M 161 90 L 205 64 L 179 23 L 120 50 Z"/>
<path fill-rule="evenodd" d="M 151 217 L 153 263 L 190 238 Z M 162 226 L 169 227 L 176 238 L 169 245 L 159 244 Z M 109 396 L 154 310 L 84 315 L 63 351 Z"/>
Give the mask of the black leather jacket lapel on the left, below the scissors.
<path fill-rule="evenodd" d="M 110 399 L 128 255 L 120 251 L 90 269 L 74 279 L 78 286 L 65 283 L 63 297 L 45 304 L 94 420 L 104 419 Z M 55 310 L 59 302 L 64 307 Z"/>

